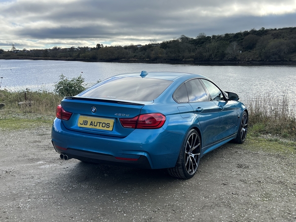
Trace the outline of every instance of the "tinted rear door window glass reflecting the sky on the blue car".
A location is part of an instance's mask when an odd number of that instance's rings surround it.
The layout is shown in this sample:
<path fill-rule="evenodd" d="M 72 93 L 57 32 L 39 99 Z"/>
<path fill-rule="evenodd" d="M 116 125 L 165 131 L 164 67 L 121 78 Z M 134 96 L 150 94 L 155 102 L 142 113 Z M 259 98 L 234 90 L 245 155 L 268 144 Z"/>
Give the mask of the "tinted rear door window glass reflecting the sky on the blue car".
<path fill-rule="evenodd" d="M 208 101 L 208 96 L 202 87 L 199 79 L 193 79 L 185 83 L 189 102 L 201 102 L 201 101 Z"/>

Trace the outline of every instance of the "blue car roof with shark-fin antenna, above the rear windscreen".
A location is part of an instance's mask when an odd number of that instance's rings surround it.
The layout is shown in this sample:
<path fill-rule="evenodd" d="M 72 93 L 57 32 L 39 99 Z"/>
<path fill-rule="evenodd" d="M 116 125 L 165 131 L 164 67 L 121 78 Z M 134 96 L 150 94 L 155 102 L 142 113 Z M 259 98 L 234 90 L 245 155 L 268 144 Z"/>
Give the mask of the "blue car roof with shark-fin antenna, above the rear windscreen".
<path fill-rule="evenodd" d="M 143 74 L 144 73 L 144 74 Z M 139 77 L 139 78 L 158 78 L 158 79 L 164 79 L 164 80 L 170 80 L 174 81 L 176 78 L 186 76 L 185 78 L 207 78 L 203 75 L 199 74 L 189 74 L 189 73 L 175 73 L 175 72 L 146 72 L 142 71 L 142 76 L 141 73 L 125 73 L 125 74 L 118 74 L 113 77 Z"/>

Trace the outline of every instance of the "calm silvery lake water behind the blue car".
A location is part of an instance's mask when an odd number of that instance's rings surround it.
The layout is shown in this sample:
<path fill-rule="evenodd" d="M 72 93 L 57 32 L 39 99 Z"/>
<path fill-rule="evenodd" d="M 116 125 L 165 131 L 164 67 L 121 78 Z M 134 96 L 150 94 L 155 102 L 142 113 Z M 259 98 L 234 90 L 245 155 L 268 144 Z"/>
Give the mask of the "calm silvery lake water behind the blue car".
<path fill-rule="evenodd" d="M 288 92 L 296 98 L 296 66 L 200 66 L 144 63 L 101 63 L 47 60 L 0 60 L 1 88 L 11 91 L 53 90 L 59 75 L 82 75 L 88 85 L 121 73 L 167 71 L 202 74 L 224 91 L 244 97 L 247 94 Z M 253 95 L 252 95 L 253 94 Z"/>

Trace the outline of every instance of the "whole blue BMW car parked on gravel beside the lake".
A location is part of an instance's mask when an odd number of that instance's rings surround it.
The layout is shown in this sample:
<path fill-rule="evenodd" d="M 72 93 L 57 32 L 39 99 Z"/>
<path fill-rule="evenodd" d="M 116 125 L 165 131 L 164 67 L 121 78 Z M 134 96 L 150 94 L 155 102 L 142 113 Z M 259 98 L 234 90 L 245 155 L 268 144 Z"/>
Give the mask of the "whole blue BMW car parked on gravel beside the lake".
<path fill-rule="evenodd" d="M 244 143 L 248 110 L 235 93 L 198 74 L 119 74 L 65 97 L 52 144 L 62 159 L 167 168 L 189 179 L 207 152 Z"/>

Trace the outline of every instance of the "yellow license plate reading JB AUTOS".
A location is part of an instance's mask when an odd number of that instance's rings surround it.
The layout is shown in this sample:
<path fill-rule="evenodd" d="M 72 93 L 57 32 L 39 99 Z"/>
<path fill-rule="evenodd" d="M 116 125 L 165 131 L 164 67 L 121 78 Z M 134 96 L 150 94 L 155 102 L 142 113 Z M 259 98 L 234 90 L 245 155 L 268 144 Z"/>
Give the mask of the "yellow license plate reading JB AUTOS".
<path fill-rule="evenodd" d="M 77 125 L 84 128 L 113 130 L 114 119 L 98 118 L 80 115 Z"/>

